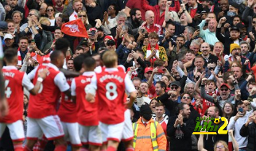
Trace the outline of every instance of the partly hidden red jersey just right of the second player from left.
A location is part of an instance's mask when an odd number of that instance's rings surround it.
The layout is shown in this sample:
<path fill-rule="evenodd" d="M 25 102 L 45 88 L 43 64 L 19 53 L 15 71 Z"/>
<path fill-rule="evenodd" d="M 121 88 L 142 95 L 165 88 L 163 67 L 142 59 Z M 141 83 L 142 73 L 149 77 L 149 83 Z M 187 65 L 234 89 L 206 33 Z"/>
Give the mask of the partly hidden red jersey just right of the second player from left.
<path fill-rule="evenodd" d="M 72 79 L 73 78 L 67 79 L 69 86 L 71 86 Z M 74 103 L 71 98 L 68 99 L 68 96 L 64 93 L 61 93 L 61 102 L 58 115 L 61 122 L 77 122 L 76 103 Z"/>

